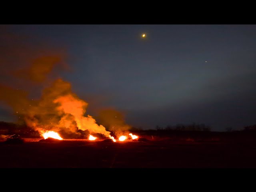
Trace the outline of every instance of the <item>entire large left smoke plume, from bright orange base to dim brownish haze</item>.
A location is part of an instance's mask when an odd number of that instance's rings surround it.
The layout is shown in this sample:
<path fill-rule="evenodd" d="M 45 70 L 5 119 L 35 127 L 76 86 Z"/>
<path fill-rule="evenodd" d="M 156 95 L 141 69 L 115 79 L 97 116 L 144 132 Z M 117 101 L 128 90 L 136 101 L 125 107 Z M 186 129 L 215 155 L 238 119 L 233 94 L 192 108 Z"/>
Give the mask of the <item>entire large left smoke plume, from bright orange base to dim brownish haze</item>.
<path fill-rule="evenodd" d="M 8 74 L 0 78 L 0 100 L 12 107 L 18 120 L 39 132 L 55 130 L 80 135 L 86 131 L 109 136 L 110 132 L 92 116 L 84 116 L 88 103 L 72 92 L 69 82 L 52 80 L 60 76 L 58 73 L 50 78 L 55 66 L 59 71 L 63 66 L 67 68 L 63 54 L 56 54 L 62 51 L 49 52 L 46 46 L 33 48 L 8 33 L 0 34 L 0 40 L 0 69 Z M 45 87 L 46 84 L 50 85 Z M 38 89 L 42 89 L 41 96 L 32 99 L 31 94 Z"/>

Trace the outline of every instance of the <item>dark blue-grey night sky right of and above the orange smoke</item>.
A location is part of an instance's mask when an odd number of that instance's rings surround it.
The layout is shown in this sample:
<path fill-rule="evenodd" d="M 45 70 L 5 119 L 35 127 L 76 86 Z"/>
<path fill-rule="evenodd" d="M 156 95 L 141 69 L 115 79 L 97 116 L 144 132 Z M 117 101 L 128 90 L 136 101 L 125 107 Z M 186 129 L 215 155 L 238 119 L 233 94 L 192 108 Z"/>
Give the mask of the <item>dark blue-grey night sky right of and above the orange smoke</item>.
<path fill-rule="evenodd" d="M 89 114 L 112 107 L 143 129 L 196 122 L 225 131 L 256 124 L 256 25 L 5 28 L 31 46 L 64 50 L 70 70 L 60 76 L 89 103 Z M 0 121 L 12 120 L 1 103 Z"/>

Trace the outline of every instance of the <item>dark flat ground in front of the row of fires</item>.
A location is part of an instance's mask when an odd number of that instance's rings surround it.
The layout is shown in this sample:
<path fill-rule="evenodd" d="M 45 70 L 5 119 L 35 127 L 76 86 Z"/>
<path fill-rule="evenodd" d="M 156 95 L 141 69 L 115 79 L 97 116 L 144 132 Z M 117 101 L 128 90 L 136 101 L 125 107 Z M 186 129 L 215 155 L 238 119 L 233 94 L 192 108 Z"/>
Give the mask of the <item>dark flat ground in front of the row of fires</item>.
<path fill-rule="evenodd" d="M 0 168 L 256 168 L 251 141 L 0 143 Z"/>

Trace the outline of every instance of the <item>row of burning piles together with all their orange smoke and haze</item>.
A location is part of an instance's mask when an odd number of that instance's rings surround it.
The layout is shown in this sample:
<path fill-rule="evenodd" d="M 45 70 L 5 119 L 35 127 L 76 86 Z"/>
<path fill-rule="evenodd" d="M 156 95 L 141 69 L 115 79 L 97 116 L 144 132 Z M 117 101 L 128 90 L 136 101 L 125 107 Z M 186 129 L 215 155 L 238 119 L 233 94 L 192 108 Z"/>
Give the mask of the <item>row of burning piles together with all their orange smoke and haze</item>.
<path fill-rule="evenodd" d="M 72 92 L 71 84 L 62 78 L 52 79 L 59 76 L 57 72 L 60 69 L 69 68 L 62 52 L 51 50 L 49 53 L 50 47 L 37 50 L 32 45 L 22 44 L 24 42 L 10 39 L 10 42 L 2 45 L 5 52 L 0 52 L 0 60 L 4 61 L 0 67 L 5 66 L 0 70 L 0 75 L 4 75 L 2 71 L 8 74 L 4 76 L 3 84 L 0 82 L 0 101 L 12 107 L 20 123 L 38 131 L 45 139 L 85 138 L 88 134 L 89 140 L 98 139 L 93 134 L 100 134 L 114 142 L 136 139 L 132 134 L 121 134 L 130 126 L 124 123 L 119 112 L 102 110 L 98 117 L 100 124 L 97 124 L 91 115 L 85 115 L 88 103 Z M 22 51 L 13 52 L 14 48 L 10 49 L 10 45 L 22 47 Z M 9 52 L 12 57 L 8 56 Z M 36 98 L 39 88 L 43 88 L 41 96 Z M 115 139 L 110 132 L 120 137 Z"/>

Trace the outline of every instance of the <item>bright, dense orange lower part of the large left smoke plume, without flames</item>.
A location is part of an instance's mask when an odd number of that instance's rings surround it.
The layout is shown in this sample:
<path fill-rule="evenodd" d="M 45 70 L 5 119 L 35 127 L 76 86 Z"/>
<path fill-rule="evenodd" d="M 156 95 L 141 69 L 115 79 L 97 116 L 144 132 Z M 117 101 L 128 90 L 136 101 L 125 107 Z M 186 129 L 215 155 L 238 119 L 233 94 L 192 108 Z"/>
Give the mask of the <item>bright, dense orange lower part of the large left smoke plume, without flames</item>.
<path fill-rule="evenodd" d="M 77 134 L 78 130 L 88 130 L 107 137 L 110 132 L 96 124 L 92 116 L 84 116 L 87 106 L 88 103 L 72 92 L 69 82 L 58 79 L 43 90 L 42 97 L 28 108 L 24 119 L 26 124 L 36 129 L 58 128 L 66 133 Z"/>

